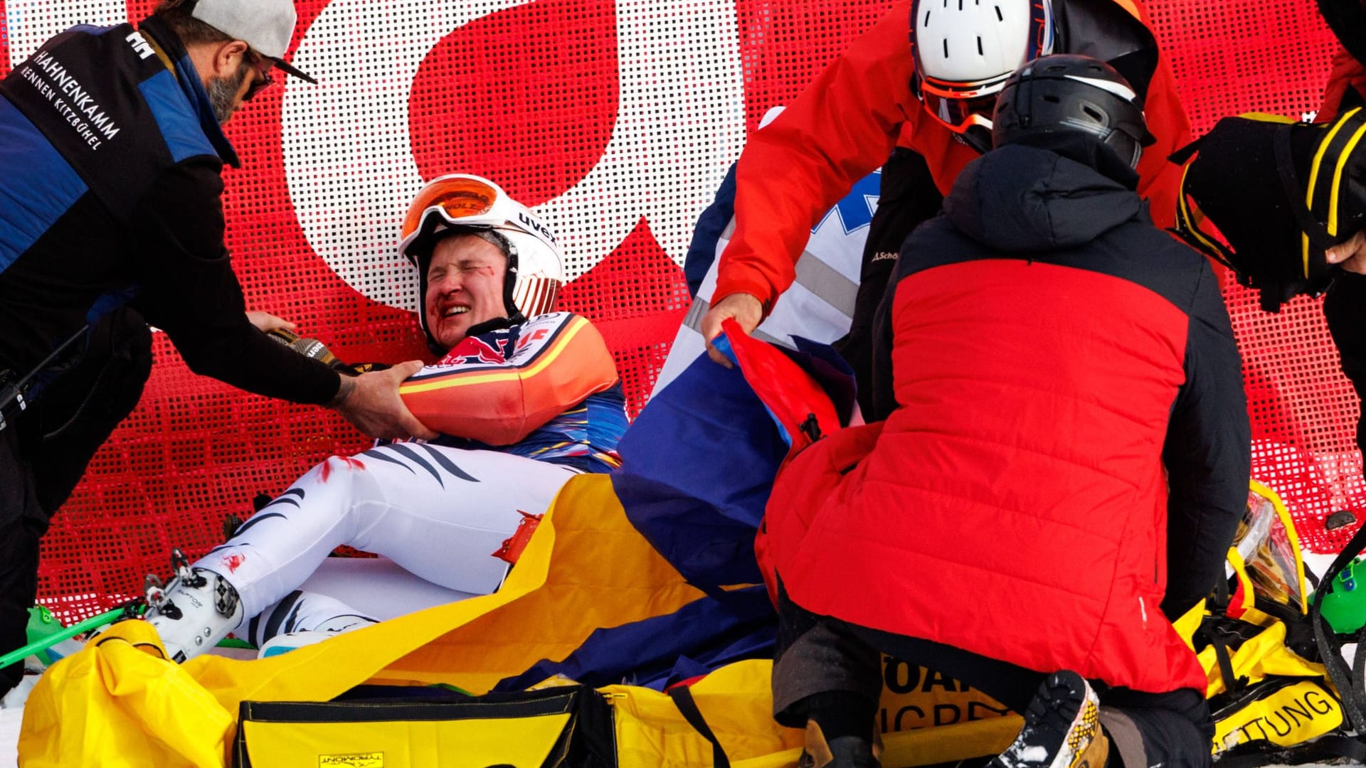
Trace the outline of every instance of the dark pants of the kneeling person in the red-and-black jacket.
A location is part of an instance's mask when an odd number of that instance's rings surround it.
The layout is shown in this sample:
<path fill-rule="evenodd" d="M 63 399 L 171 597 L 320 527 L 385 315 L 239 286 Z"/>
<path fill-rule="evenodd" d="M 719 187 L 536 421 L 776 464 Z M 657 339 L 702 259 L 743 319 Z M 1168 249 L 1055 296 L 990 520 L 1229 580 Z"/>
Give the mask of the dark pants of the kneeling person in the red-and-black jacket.
<path fill-rule="evenodd" d="M 818 616 L 779 590 L 777 656 L 773 664 L 773 717 L 783 726 L 806 724 L 807 698 L 854 694 L 876 708 L 882 693 L 881 653 L 948 675 L 1016 712 L 1034 697 L 1044 672 L 999 659 Z M 1094 683 L 1101 726 L 1126 768 L 1208 768 L 1214 720 L 1194 689 L 1142 693 Z"/>

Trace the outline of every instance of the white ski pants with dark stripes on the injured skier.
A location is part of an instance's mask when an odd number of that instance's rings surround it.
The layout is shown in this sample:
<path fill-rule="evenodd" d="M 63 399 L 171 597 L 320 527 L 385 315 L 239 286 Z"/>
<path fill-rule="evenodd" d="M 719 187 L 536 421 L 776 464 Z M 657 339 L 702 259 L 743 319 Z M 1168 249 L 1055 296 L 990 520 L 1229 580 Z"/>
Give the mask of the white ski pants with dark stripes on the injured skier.
<path fill-rule="evenodd" d="M 421 443 L 332 456 L 195 567 L 224 577 L 238 590 L 247 619 L 268 608 L 277 614 L 276 604 L 290 599 L 290 620 L 261 622 L 273 630 L 260 633 L 264 640 L 277 631 L 321 629 L 347 615 L 373 620 L 344 600 L 292 594 L 343 544 L 384 555 L 440 586 L 489 594 L 508 570 L 493 552 L 516 530 L 520 512 L 545 512 L 574 474 L 525 456 Z"/>

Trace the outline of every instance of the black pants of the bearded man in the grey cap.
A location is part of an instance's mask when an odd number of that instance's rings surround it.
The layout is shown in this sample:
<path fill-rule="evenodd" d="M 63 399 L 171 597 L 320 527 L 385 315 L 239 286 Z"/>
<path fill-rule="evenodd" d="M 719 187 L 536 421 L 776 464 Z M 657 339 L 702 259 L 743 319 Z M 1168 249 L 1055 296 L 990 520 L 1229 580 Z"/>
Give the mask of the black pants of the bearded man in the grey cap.
<path fill-rule="evenodd" d="M 27 642 L 38 593 L 38 543 L 86 465 L 138 404 L 152 372 L 152 333 L 119 309 L 94 323 L 81 357 L 0 430 L 0 655 Z M 0 696 L 23 664 L 0 670 Z"/>

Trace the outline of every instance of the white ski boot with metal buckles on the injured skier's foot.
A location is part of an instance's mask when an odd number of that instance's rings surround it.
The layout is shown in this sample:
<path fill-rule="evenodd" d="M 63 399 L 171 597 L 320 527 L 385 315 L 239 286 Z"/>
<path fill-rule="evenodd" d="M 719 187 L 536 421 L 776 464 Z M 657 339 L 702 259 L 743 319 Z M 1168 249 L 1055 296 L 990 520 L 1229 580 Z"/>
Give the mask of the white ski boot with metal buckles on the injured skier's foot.
<path fill-rule="evenodd" d="M 221 575 L 191 568 L 179 549 L 172 549 L 171 566 L 176 575 L 165 586 L 148 575 L 145 619 L 161 635 L 167 656 L 180 664 L 228 637 L 242 623 L 242 603 Z"/>

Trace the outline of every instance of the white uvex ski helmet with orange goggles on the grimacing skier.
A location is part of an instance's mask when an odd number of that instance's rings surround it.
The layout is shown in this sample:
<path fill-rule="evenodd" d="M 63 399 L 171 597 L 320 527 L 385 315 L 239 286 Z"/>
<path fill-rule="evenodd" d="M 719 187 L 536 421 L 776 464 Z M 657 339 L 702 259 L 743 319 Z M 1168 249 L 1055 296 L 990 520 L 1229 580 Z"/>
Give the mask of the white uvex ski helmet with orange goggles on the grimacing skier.
<path fill-rule="evenodd" d="M 432 250 L 443 238 L 459 232 L 490 236 L 507 256 L 503 303 L 514 323 L 555 309 L 564 283 L 564 256 L 555 234 L 501 187 L 469 174 L 433 179 L 413 198 L 403 217 L 399 253 L 418 269 L 419 305 L 426 297 Z M 418 312 L 418 317 L 430 340 L 425 313 Z"/>

